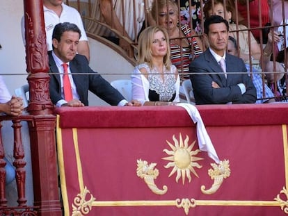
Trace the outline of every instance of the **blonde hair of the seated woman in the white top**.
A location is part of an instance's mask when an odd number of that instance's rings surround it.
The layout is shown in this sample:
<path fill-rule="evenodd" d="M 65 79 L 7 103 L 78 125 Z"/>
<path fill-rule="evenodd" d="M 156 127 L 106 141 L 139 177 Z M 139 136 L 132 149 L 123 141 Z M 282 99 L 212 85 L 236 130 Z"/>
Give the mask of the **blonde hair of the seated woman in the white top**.
<path fill-rule="evenodd" d="M 154 34 L 158 31 L 163 32 L 164 37 L 166 39 L 167 44 L 167 53 L 164 56 L 163 63 L 167 69 L 170 69 L 171 60 L 170 60 L 170 43 L 169 37 L 166 28 L 162 26 L 149 26 L 144 29 L 144 31 L 140 34 L 138 40 L 138 58 L 137 63 L 138 65 L 147 63 L 149 67 L 152 69 L 152 44 L 154 40 Z"/>

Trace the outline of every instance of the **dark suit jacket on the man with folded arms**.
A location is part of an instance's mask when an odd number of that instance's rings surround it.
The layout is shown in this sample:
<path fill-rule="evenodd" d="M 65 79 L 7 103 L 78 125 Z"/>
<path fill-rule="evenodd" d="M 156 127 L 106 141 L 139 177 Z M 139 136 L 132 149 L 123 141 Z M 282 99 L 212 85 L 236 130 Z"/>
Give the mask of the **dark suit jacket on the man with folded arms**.
<path fill-rule="evenodd" d="M 225 62 L 227 78 L 209 49 L 191 62 L 190 72 L 196 73 L 190 75 L 196 104 L 255 103 L 256 89 L 243 60 L 226 53 Z M 220 88 L 212 88 L 212 81 Z M 244 94 L 239 83 L 246 85 Z"/>

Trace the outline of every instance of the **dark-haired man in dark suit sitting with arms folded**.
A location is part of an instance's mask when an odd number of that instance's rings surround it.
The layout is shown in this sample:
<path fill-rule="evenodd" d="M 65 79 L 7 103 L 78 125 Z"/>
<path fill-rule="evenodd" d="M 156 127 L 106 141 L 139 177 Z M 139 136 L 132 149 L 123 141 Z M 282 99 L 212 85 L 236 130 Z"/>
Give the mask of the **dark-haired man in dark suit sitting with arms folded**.
<path fill-rule="evenodd" d="M 256 90 L 243 60 L 226 53 L 228 22 L 211 15 L 204 28 L 210 47 L 190 64 L 196 104 L 255 103 Z"/>

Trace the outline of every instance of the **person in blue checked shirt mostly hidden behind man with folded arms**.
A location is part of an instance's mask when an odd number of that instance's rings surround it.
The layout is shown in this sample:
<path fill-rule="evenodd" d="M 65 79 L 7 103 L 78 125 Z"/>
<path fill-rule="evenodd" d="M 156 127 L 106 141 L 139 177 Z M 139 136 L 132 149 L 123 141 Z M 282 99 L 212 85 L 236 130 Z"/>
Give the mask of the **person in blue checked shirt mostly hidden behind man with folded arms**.
<path fill-rule="evenodd" d="M 235 40 L 235 38 L 232 38 L 231 36 L 229 36 L 228 38 L 228 43 L 227 43 L 227 53 L 230 53 L 233 56 L 237 56 L 237 51 L 238 47 L 237 47 L 237 41 Z M 245 64 L 246 69 L 248 74 L 250 75 L 250 65 L 249 64 Z M 256 92 L 257 92 L 257 101 L 256 103 L 271 103 L 271 102 L 275 102 L 275 99 L 273 99 L 274 94 L 271 91 L 271 89 L 266 85 L 266 83 L 263 83 L 262 81 L 262 76 L 261 74 L 259 74 L 259 70 L 255 67 L 252 67 L 251 69 L 252 74 L 252 81 L 253 84 L 256 88 Z M 264 88 L 264 89 L 263 89 Z M 265 94 L 264 94 L 265 92 Z"/>

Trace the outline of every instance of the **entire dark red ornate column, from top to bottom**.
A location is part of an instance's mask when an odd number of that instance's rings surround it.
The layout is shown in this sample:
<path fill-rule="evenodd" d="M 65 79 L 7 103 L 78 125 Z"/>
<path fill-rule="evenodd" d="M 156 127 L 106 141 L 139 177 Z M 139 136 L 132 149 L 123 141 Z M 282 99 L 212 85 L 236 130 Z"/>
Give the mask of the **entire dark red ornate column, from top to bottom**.
<path fill-rule="evenodd" d="M 49 65 L 42 0 L 24 0 L 26 64 L 34 206 L 38 215 L 62 215 L 56 163 L 54 106 L 49 95 Z"/>

